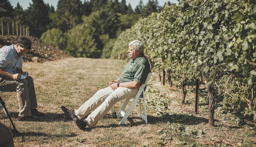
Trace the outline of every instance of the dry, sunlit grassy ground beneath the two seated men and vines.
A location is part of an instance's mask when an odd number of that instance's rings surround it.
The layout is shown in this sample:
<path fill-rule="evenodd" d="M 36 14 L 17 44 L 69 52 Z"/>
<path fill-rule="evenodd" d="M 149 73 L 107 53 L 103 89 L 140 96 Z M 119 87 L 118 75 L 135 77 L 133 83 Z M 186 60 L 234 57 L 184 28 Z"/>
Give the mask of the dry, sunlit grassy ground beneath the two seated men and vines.
<path fill-rule="evenodd" d="M 41 122 L 19 122 L 16 93 L 1 94 L 20 132 L 15 146 L 256 146 L 255 124 L 237 114 L 223 114 L 217 106 L 216 127 L 209 126 L 204 90 L 196 114 L 194 87 L 188 86 L 186 105 L 180 105 L 181 90 L 162 86 L 155 73 L 146 91 L 148 124 L 139 118 L 136 105 L 124 125 L 118 126 L 121 119 L 113 119 L 109 112 L 96 126 L 80 130 L 59 105 L 78 108 L 116 79 L 124 66 L 121 60 L 91 58 L 24 63 L 23 70 L 34 78 L 38 110 L 46 115 Z M 116 111 L 122 103 L 115 105 Z M 5 114 L 0 122 L 10 126 Z"/>

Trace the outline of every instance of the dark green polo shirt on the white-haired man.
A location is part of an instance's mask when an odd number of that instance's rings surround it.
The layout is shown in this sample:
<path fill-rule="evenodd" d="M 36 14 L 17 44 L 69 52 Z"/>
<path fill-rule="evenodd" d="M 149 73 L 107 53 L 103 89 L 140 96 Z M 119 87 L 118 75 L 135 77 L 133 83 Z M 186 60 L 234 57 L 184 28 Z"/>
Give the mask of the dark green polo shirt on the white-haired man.
<path fill-rule="evenodd" d="M 121 76 L 120 82 L 131 82 L 136 81 L 144 84 L 146 78 L 150 73 L 150 66 L 147 57 L 142 54 L 135 60 L 131 59 L 125 66 Z"/>

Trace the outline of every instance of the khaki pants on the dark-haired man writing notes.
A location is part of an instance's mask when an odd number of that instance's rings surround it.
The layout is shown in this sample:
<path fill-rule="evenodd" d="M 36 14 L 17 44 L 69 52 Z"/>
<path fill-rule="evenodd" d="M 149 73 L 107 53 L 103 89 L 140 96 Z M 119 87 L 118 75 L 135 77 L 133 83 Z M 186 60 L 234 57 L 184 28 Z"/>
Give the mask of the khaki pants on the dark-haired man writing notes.
<path fill-rule="evenodd" d="M 19 80 L 0 77 L 0 90 L 17 92 L 19 116 L 30 116 L 31 109 L 37 108 L 34 81 L 31 76 Z"/>

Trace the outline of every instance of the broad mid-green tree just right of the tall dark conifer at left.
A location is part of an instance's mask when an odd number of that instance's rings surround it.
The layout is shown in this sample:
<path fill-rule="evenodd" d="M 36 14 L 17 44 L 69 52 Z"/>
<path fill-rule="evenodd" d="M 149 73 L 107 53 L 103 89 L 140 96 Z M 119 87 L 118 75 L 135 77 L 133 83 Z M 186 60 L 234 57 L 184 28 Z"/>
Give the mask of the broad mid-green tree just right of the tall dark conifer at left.
<path fill-rule="evenodd" d="M 80 0 L 59 0 L 57 10 L 50 15 L 49 28 L 59 28 L 63 32 L 81 22 L 83 5 Z"/>

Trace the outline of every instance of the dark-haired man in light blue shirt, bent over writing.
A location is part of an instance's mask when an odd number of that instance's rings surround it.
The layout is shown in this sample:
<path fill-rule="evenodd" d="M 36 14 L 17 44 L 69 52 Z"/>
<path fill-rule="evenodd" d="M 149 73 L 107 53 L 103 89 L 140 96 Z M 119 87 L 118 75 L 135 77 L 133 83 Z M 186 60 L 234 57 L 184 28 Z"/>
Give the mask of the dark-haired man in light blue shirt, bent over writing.
<path fill-rule="evenodd" d="M 22 56 L 31 49 L 31 41 L 27 37 L 20 37 L 16 44 L 0 48 L 0 90 L 16 91 L 19 102 L 18 121 L 39 121 L 39 112 L 31 76 L 25 76 L 22 71 Z"/>

